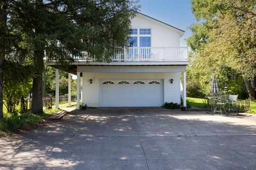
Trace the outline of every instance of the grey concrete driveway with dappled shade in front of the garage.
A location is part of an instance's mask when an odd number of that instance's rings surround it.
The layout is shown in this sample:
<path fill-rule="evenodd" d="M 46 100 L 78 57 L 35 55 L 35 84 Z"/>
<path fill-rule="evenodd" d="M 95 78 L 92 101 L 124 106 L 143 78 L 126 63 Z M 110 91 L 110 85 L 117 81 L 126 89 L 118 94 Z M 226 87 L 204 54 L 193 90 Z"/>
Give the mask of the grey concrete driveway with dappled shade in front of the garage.
<path fill-rule="evenodd" d="M 90 108 L 0 138 L 0 169 L 256 169 L 256 116 Z"/>

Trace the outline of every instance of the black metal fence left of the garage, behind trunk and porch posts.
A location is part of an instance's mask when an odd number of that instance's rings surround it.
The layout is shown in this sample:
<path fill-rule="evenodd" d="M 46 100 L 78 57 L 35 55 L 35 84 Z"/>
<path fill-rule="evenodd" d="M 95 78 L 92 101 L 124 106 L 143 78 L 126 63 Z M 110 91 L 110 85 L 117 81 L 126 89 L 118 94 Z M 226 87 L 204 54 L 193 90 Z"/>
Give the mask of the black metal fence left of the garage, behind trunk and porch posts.
<path fill-rule="evenodd" d="M 71 95 L 71 102 L 76 101 L 76 95 Z M 59 96 L 59 103 L 68 103 L 68 95 Z M 55 96 L 54 97 L 43 97 L 43 108 L 52 108 L 55 105 Z M 32 107 L 32 99 L 21 99 L 20 102 L 21 111 L 27 111 Z"/>

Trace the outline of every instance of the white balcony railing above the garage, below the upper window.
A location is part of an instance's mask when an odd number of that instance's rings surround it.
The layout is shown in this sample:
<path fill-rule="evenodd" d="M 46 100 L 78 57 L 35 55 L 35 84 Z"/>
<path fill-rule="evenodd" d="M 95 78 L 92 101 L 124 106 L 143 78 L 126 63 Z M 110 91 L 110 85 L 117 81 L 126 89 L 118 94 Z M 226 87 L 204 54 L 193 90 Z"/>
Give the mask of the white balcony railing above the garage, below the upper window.
<path fill-rule="evenodd" d="M 114 62 L 188 61 L 188 47 L 130 47 L 114 55 Z"/>

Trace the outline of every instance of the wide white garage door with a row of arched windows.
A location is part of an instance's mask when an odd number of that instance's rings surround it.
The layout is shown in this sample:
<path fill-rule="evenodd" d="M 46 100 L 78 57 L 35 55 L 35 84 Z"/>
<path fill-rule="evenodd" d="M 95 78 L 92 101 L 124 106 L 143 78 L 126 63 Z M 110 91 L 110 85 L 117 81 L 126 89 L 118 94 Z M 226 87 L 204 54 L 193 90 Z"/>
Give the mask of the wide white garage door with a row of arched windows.
<path fill-rule="evenodd" d="M 101 80 L 100 106 L 162 106 L 163 80 Z"/>

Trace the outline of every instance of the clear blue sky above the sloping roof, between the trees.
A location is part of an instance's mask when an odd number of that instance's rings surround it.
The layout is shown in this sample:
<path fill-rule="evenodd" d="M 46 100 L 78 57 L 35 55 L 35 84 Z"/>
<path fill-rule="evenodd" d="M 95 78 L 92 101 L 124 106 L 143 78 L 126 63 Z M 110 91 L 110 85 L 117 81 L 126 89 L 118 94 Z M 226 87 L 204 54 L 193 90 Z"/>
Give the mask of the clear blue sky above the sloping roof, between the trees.
<path fill-rule="evenodd" d="M 140 0 L 140 4 L 141 13 L 185 31 L 180 46 L 187 46 L 185 39 L 191 36 L 188 27 L 196 23 L 190 0 Z"/>

